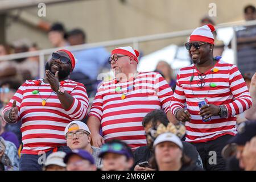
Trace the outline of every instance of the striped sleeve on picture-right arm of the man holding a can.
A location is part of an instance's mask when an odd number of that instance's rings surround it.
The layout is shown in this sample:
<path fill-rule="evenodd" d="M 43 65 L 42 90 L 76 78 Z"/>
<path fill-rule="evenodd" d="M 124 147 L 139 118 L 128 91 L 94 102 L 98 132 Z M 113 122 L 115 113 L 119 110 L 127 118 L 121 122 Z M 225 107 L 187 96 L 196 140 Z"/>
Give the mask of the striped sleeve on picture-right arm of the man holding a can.
<path fill-rule="evenodd" d="M 225 106 L 228 109 L 228 117 L 234 116 L 251 107 L 252 101 L 245 80 L 236 65 L 233 65 L 229 73 L 230 91 L 234 101 Z"/>

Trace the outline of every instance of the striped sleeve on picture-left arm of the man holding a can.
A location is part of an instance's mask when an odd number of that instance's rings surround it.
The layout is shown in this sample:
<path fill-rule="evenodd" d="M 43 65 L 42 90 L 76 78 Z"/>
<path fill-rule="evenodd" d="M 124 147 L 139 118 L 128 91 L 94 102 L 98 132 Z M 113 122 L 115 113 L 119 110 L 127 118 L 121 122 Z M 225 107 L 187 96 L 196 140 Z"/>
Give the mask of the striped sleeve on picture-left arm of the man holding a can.
<path fill-rule="evenodd" d="M 179 83 L 179 78 L 180 78 L 180 74 L 177 75 L 174 97 L 172 97 L 172 101 L 170 105 L 170 110 L 172 114 L 174 114 L 175 109 L 184 108 L 185 102 L 186 102 L 185 93 L 184 93 L 183 87 Z"/>

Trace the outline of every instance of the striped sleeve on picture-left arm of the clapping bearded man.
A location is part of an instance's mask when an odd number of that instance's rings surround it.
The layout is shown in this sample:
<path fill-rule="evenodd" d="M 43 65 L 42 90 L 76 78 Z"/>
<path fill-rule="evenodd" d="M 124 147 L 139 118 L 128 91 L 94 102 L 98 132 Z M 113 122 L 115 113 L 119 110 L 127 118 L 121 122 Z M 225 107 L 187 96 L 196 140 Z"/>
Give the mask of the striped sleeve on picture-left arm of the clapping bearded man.
<path fill-rule="evenodd" d="M 22 99 L 23 99 L 23 90 L 24 90 L 24 88 L 26 88 L 26 82 L 24 82 L 24 84 L 22 84 L 19 87 L 19 89 L 14 94 L 14 96 L 11 98 L 9 104 L 7 104 L 5 106 L 5 109 L 3 109 L 3 113 L 2 113 L 4 115 L 7 110 L 11 109 L 11 106 L 13 106 L 13 101 L 16 100 L 16 106 L 18 107 L 18 120 L 17 120 L 17 122 L 20 120 L 20 104 L 21 104 Z"/>

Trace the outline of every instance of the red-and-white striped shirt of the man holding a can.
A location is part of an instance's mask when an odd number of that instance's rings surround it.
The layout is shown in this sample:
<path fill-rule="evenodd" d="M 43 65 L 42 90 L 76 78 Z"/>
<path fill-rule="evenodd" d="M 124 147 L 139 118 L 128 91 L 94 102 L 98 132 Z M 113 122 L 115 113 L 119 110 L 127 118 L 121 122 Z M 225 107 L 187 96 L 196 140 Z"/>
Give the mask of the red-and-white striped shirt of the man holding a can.
<path fill-rule="evenodd" d="M 213 72 L 213 68 L 217 72 Z M 236 65 L 217 61 L 212 69 L 205 72 L 205 85 L 200 88 L 200 72 L 194 64 L 181 68 L 177 75 L 177 85 L 171 102 L 171 112 L 184 108 L 191 114 L 191 121 L 185 122 L 187 129 L 186 141 L 192 143 L 207 142 L 222 135 L 236 135 L 236 114 L 240 114 L 251 107 L 251 97 L 245 80 Z M 193 80 L 191 77 L 193 75 Z M 197 85 L 199 83 L 199 85 Z M 214 83 L 216 87 L 210 87 Z M 228 117 L 212 116 L 212 120 L 203 122 L 199 115 L 198 102 L 207 98 L 208 104 L 225 105 Z"/>

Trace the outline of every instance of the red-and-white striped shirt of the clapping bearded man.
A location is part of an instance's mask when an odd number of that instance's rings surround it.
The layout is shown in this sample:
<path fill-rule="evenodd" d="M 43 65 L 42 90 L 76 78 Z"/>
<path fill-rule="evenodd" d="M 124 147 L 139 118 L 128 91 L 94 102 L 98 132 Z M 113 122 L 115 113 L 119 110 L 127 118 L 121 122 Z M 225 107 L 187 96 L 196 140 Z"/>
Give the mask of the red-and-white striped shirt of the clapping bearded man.
<path fill-rule="evenodd" d="M 9 104 L 5 113 L 16 100 L 18 119 L 22 122 L 22 154 L 37 155 L 39 151 L 49 151 L 57 146 L 66 145 L 65 126 L 73 120 L 81 120 L 88 113 L 89 101 L 83 84 L 72 80 L 61 81 L 65 91 L 74 98 L 69 109 L 65 110 L 49 84 L 40 85 L 35 80 L 27 80 L 22 84 Z M 34 90 L 39 93 L 33 94 Z M 42 105 L 42 98 L 47 99 Z"/>

